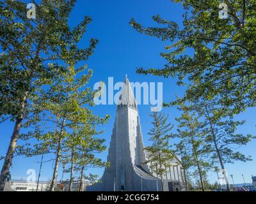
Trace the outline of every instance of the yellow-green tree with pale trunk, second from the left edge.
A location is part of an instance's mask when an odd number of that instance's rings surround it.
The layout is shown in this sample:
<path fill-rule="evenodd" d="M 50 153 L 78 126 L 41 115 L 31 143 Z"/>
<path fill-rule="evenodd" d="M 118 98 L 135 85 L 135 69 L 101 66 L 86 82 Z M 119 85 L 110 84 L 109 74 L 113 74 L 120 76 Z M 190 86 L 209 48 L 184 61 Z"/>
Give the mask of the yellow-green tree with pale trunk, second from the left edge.
<path fill-rule="evenodd" d="M 42 112 L 39 112 L 40 115 L 37 115 L 40 117 L 39 121 L 48 122 L 54 126 L 52 131 L 38 135 L 41 143 L 36 147 L 36 149 L 48 147 L 56 155 L 51 191 L 54 191 L 63 150 L 68 149 L 68 152 L 71 150 L 69 159 L 74 164 L 74 149 L 77 145 L 86 143 L 82 140 L 81 134 L 77 135 L 76 128 L 85 124 L 87 125 L 84 126 L 85 128 L 105 124 L 109 118 L 109 115 L 103 118 L 93 115 L 92 110 L 89 109 L 93 105 L 96 92 L 86 87 L 92 77 L 92 70 L 88 69 L 88 73 L 84 73 L 85 70 L 86 66 L 75 68 L 70 62 L 68 73 L 63 73 L 47 90 L 41 90 L 44 97 L 36 101 L 38 108 L 42 109 Z M 30 120 L 30 122 L 35 121 Z M 70 131 L 72 129 L 73 132 Z"/>

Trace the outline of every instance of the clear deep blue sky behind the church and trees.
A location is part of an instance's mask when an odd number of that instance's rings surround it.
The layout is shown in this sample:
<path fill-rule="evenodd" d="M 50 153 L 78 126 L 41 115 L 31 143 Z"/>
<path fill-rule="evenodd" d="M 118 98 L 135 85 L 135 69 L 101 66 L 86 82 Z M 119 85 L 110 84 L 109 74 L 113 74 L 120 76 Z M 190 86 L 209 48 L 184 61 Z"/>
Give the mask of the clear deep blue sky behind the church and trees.
<path fill-rule="evenodd" d="M 29 2 L 29 1 L 27 1 Z M 40 1 L 37 1 L 40 2 Z M 90 15 L 93 18 L 92 24 L 88 26 L 88 32 L 81 41 L 81 46 L 87 46 L 90 38 L 97 38 L 99 45 L 95 53 L 86 62 L 89 68 L 92 68 L 94 75 L 92 77 L 93 87 L 95 82 L 108 82 L 108 77 L 114 77 L 114 82 L 122 82 L 125 74 L 128 75 L 131 82 L 163 82 L 163 98 L 165 102 L 171 101 L 175 98 L 175 94 L 180 96 L 184 92 L 184 88 L 178 87 L 175 80 L 172 78 L 166 79 L 162 77 L 152 77 L 137 75 L 135 73 L 136 67 L 143 68 L 154 67 L 162 68 L 164 59 L 159 57 L 159 53 L 164 51 L 164 46 L 170 45 L 168 42 L 163 42 L 150 36 L 137 33 L 129 25 L 129 20 L 134 17 L 143 25 L 154 25 L 152 16 L 160 14 L 161 17 L 174 20 L 175 22 L 182 22 L 182 7 L 179 4 L 173 4 L 170 0 L 78 0 L 76 8 L 70 17 L 70 26 L 78 24 L 84 15 Z M 80 64 L 84 64 L 80 63 Z M 143 132 L 143 139 L 145 144 L 148 142 L 148 130 L 150 129 L 150 106 L 140 105 L 139 107 L 141 129 Z M 109 146 L 112 128 L 115 120 L 115 105 L 100 105 L 93 108 L 96 115 L 111 115 L 111 119 L 105 126 L 99 127 L 104 129 L 102 138 L 106 139 L 106 145 Z M 175 124 L 175 117 L 179 117 L 179 112 L 175 108 L 166 108 L 164 112 L 170 115 L 170 122 Z M 238 133 L 255 133 L 255 115 L 256 108 L 250 108 L 245 113 L 237 116 L 237 119 L 246 120 L 246 124 L 238 129 Z M 6 154 L 8 144 L 10 142 L 10 135 L 13 129 L 12 122 L 5 122 L 0 124 L 0 156 Z M 22 132 L 25 130 L 22 129 Z M 236 183 L 243 183 L 241 174 L 244 174 L 246 182 L 252 182 L 251 175 L 256 175 L 256 142 L 242 147 L 240 150 L 244 154 L 253 157 L 252 162 L 235 164 L 228 164 L 227 171 L 234 174 Z M 99 156 L 106 160 L 108 153 L 104 152 Z M 51 158 L 54 156 L 48 156 Z M 26 179 L 26 171 L 28 169 L 35 169 L 38 171 L 39 164 L 35 163 L 37 157 L 25 158 L 15 157 L 13 159 L 13 166 L 11 169 L 12 179 Z M 3 161 L 0 163 L 2 166 Z M 103 169 L 90 169 L 89 173 L 98 173 L 102 175 Z M 52 177 L 52 163 L 44 164 L 42 168 L 42 180 L 49 180 Z M 68 175 L 65 175 L 67 178 Z M 61 166 L 59 177 L 61 178 Z M 217 180 L 216 173 L 209 172 L 209 179 L 211 182 Z M 228 177 L 230 179 L 230 177 Z"/>

